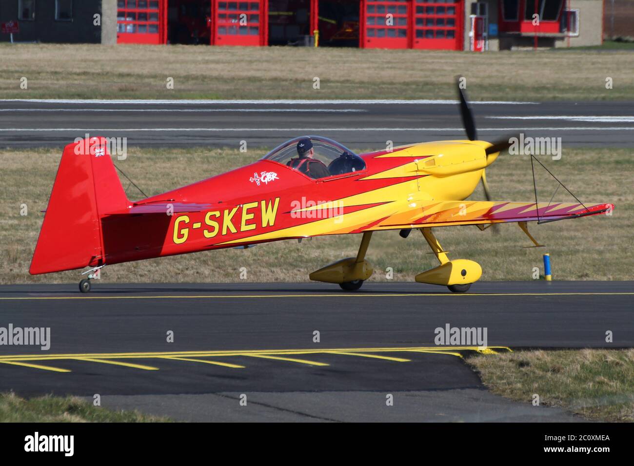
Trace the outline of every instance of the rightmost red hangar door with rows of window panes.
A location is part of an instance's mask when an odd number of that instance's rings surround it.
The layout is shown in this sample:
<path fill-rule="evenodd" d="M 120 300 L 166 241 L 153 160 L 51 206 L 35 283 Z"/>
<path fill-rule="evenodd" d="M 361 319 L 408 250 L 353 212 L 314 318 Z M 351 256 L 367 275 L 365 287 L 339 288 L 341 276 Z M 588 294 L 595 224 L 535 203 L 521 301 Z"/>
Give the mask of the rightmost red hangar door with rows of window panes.
<path fill-rule="evenodd" d="M 462 50 L 464 4 L 461 0 L 413 0 L 412 48 Z"/>

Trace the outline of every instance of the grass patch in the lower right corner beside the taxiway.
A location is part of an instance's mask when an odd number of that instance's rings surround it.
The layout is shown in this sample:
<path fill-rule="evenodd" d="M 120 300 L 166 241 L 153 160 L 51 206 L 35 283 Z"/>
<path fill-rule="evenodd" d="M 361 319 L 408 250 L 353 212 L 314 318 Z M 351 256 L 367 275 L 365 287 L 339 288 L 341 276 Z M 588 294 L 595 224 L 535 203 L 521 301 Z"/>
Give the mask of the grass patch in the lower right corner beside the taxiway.
<path fill-rule="evenodd" d="M 467 359 L 496 394 L 583 417 L 634 421 L 634 349 L 519 351 Z"/>

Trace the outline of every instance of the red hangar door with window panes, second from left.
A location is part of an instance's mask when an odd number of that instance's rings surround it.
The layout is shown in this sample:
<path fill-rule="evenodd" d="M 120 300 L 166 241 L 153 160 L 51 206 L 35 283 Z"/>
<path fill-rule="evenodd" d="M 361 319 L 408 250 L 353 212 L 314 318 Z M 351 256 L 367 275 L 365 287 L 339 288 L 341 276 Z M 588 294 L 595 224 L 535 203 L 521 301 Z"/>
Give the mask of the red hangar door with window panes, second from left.
<path fill-rule="evenodd" d="M 212 11 L 212 45 L 268 44 L 267 0 L 215 0 Z"/>

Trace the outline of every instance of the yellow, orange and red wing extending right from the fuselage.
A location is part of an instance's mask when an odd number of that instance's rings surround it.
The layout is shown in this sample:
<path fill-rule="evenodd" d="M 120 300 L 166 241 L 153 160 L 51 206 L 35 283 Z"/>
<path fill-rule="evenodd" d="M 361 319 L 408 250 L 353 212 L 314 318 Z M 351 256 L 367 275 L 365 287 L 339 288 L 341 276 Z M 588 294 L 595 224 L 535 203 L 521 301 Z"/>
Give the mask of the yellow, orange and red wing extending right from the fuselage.
<path fill-rule="evenodd" d="M 553 202 L 487 202 L 442 201 L 425 202 L 422 215 L 411 226 L 448 226 L 507 222 L 540 221 L 540 223 L 611 214 L 612 204 L 579 204 Z"/>

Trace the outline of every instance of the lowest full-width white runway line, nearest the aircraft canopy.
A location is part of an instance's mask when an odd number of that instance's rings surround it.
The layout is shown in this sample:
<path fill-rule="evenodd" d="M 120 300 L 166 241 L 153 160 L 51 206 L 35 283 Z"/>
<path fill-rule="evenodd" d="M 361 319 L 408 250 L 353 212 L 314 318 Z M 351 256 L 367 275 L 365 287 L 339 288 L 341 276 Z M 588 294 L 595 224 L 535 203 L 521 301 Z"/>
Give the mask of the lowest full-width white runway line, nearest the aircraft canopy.
<path fill-rule="evenodd" d="M 508 128 L 478 128 L 478 131 L 631 131 L 633 126 L 566 126 L 566 127 L 508 127 Z M 25 132 L 44 132 L 44 131 L 79 131 L 82 133 L 99 133 L 101 131 L 117 131 L 119 133 L 131 132 L 150 132 L 164 133 L 172 132 L 191 132 L 200 131 L 202 133 L 235 133 L 250 131 L 268 131 L 268 132 L 294 132 L 294 133 L 319 133 L 323 131 L 434 131 L 434 132 L 456 132 L 464 131 L 463 127 L 455 128 L 0 128 L 0 132 L 8 133 L 25 133 Z"/>

